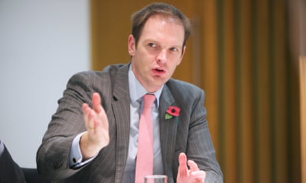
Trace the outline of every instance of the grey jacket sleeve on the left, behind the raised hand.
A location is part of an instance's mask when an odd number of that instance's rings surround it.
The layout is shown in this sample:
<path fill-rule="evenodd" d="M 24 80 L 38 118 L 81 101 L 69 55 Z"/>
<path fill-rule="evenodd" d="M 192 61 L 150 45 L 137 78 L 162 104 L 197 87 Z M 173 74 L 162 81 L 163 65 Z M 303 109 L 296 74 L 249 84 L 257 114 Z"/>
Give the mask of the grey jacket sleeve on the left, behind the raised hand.
<path fill-rule="evenodd" d="M 94 93 L 89 77 L 88 74 L 78 73 L 70 78 L 43 136 L 43 143 L 36 154 L 36 164 L 39 173 L 47 180 L 65 179 L 83 169 L 69 167 L 69 152 L 74 138 L 85 132 L 82 105 L 91 105 L 91 95 Z"/>

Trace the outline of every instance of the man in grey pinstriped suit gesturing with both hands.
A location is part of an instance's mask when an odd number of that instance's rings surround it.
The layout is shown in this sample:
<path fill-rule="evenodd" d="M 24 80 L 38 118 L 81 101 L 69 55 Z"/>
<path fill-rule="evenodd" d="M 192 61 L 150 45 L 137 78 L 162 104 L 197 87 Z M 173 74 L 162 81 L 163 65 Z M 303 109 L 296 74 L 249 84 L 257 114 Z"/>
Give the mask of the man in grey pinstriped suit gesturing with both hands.
<path fill-rule="evenodd" d="M 223 182 L 204 91 L 171 79 L 185 53 L 188 19 L 172 5 L 153 3 L 132 21 L 131 62 L 69 80 L 37 152 L 39 172 L 54 182 L 142 181 L 135 173 L 138 132 L 142 96 L 149 93 L 156 98 L 151 173 L 167 175 L 168 182 Z"/>

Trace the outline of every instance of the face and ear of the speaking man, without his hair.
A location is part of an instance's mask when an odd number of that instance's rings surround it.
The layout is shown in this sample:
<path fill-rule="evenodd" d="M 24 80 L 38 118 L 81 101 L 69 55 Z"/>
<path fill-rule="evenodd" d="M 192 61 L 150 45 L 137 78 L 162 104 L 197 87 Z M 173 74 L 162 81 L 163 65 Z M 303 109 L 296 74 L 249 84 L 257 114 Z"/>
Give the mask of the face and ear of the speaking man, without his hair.
<path fill-rule="evenodd" d="M 170 79 L 184 56 L 183 41 L 182 23 L 160 15 L 146 21 L 137 47 L 133 36 L 129 36 L 132 70 L 146 90 L 154 92 Z"/>

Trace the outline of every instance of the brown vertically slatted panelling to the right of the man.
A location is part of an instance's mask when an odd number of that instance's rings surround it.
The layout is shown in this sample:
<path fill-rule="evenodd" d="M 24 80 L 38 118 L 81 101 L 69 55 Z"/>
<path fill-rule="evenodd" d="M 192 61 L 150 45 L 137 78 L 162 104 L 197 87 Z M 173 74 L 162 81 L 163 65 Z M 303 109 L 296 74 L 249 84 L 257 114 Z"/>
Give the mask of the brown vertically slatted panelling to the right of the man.
<path fill-rule="evenodd" d="M 290 57 L 286 2 L 206 5 L 215 12 L 199 8 L 201 53 L 215 56 L 204 56 L 202 71 L 213 72 L 217 84 L 204 74 L 201 86 L 214 96 L 206 106 L 215 110 L 208 118 L 217 123 L 212 134 L 226 182 L 300 182 L 298 68 Z"/>

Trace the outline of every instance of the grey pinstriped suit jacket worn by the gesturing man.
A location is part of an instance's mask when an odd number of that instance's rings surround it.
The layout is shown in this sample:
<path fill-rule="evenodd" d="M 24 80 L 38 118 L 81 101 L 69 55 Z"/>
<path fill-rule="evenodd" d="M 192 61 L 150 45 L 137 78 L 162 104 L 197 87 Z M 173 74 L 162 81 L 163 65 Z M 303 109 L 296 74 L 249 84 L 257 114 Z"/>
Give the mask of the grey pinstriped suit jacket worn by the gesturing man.
<path fill-rule="evenodd" d="M 36 155 L 39 173 L 54 182 L 119 183 L 122 179 L 129 147 L 129 64 L 107 66 L 104 71 L 77 73 L 67 84 L 58 109 L 52 116 L 43 143 Z M 83 103 L 91 105 L 91 95 L 100 93 L 109 119 L 110 143 L 98 156 L 80 169 L 69 168 L 69 151 L 74 137 L 85 131 Z M 164 116 L 169 106 L 181 109 L 177 120 Z M 160 143 L 168 182 L 176 182 L 178 155 L 185 152 L 206 171 L 206 182 L 223 182 L 215 158 L 204 91 L 178 80 L 169 80 L 160 97 Z"/>

